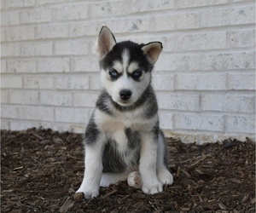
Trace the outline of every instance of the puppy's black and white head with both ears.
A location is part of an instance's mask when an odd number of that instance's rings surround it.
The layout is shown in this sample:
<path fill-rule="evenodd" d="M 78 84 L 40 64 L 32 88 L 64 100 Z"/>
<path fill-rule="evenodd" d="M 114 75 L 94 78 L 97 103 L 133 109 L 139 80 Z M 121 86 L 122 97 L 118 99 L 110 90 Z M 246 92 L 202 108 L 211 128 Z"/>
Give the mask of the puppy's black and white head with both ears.
<path fill-rule="evenodd" d="M 151 81 L 151 71 L 162 51 L 162 43 L 116 43 L 107 26 L 97 38 L 97 56 L 102 86 L 120 106 L 135 103 Z"/>

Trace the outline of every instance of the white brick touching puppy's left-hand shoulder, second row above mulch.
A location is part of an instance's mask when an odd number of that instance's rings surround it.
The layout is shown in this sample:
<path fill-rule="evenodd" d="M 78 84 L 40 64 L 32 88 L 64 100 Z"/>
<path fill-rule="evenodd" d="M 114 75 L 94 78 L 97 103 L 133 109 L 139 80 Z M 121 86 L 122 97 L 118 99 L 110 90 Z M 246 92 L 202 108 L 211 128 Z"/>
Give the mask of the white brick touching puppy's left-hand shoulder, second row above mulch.
<path fill-rule="evenodd" d="M 55 108 L 55 121 L 85 124 L 90 118 L 91 109 Z"/>

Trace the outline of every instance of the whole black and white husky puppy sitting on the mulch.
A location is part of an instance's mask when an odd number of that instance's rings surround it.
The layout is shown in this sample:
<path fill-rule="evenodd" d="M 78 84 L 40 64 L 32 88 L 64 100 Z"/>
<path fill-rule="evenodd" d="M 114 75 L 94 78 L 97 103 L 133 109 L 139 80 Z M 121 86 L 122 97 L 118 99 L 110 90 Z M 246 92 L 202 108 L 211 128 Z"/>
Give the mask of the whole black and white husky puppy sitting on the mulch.
<path fill-rule="evenodd" d="M 96 197 L 100 186 L 126 179 L 150 194 L 172 184 L 150 84 L 161 50 L 160 42 L 116 43 L 108 27 L 102 26 L 97 56 L 103 89 L 85 131 L 84 180 L 77 191 L 85 199 Z"/>

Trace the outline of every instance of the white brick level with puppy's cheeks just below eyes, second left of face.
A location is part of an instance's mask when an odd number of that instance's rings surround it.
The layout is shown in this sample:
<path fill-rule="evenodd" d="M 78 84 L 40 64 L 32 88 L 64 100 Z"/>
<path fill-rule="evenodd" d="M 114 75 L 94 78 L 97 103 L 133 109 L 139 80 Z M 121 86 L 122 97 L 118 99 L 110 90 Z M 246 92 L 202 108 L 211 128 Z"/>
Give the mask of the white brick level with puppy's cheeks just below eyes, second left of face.
<path fill-rule="evenodd" d="M 56 78 L 57 89 L 89 89 L 88 76 L 62 76 Z"/>

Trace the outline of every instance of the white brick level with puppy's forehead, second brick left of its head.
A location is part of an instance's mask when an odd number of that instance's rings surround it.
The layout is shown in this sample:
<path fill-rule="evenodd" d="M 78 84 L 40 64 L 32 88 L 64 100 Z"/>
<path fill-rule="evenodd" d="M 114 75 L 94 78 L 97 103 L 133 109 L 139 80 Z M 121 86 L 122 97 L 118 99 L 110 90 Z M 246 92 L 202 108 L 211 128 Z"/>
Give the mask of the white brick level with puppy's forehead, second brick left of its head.
<path fill-rule="evenodd" d="M 69 68 L 69 58 L 38 60 L 38 72 L 70 72 Z"/>

